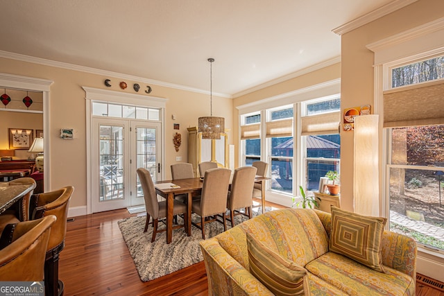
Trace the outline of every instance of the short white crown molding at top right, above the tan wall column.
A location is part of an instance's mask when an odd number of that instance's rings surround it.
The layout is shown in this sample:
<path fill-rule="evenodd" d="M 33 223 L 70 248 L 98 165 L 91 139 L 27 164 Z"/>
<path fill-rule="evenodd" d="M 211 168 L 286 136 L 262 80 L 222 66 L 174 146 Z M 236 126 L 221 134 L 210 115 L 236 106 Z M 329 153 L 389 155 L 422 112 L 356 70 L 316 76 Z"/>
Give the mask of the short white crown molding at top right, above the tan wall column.
<path fill-rule="evenodd" d="M 355 30 L 356 28 L 359 28 L 360 26 L 364 26 L 365 24 L 370 23 L 370 21 L 379 19 L 379 17 L 384 17 L 385 15 L 388 15 L 391 12 L 399 10 L 405 6 L 409 6 L 411 3 L 414 3 L 416 1 L 418 0 L 395 0 L 391 3 L 388 3 L 384 6 L 381 6 L 380 8 L 373 10 L 372 12 L 368 12 L 366 15 L 357 17 L 356 19 L 353 19 L 352 21 L 349 21 L 348 23 L 343 24 L 342 26 L 334 28 L 332 32 L 338 35 L 343 35 L 345 33 Z"/>

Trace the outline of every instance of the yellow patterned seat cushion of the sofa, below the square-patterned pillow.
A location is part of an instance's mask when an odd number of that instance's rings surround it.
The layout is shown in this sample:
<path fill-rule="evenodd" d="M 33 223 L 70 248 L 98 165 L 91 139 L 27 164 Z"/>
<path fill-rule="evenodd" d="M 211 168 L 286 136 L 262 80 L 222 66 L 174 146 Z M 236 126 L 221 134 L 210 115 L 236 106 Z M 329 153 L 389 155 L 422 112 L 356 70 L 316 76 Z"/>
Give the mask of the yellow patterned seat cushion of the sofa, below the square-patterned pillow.
<path fill-rule="evenodd" d="M 348 295 L 415 295 L 415 282 L 409 275 L 386 266 L 386 272 L 377 272 L 333 252 L 305 268 Z"/>

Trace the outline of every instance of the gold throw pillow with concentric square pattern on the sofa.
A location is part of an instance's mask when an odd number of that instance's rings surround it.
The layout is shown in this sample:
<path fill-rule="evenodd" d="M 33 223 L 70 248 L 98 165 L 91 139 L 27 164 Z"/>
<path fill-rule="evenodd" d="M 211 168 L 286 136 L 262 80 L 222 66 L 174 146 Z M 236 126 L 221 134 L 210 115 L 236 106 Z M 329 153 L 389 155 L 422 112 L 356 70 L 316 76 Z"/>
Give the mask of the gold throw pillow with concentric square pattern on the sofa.
<path fill-rule="evenodd" d="M 386 218 L 364 216 L 332 207 L 330 251 L 384 272 L 381 241 Z"/>

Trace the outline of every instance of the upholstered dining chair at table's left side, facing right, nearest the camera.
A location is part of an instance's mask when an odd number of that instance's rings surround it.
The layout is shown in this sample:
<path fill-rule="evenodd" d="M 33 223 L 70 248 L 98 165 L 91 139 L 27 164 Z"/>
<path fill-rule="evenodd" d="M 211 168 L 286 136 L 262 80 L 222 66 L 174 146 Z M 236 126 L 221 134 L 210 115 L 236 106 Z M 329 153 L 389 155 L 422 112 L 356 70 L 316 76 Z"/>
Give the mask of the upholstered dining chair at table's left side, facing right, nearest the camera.
<path fill-rule="evenodd" d="M 158 229 L 159 219 L 167 217 L 167 201 L 157 200 L 157 194 L 155 193 L 155 187 L 151 174 L 146 168 L 137 168 L 137 175 L 139 176 L 140 184 L 142 185 L 142 191 L 144 192 L 145 208 L 146 208 L 146 222 L 144 232 L 148 230 L 150 225 L 150 218 L 153 218 L 153 236 L 151 237 L 151 243 L 155 241 L 155 236 L 158 232 L 165 232 L 167 229 Z M 173 215 L 183 214 L 184 224 L 173 226 L 173 229 L 185 227 L 187 230 L 188 214 L 187 206 L 174 199 Z"/>

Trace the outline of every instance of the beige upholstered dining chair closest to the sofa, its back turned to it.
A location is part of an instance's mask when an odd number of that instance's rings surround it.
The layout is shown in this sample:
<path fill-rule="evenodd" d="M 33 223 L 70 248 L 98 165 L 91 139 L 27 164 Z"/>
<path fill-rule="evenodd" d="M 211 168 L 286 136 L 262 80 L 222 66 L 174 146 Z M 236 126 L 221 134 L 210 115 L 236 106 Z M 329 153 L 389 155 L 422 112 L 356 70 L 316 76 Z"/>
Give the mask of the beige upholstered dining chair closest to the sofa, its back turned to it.
<path fill-rule="evenodd" d="M 227 229 L 225 211 L 230 176 L 231 170 L 228 168 L 211 168 L 205 171 L 200 200 L 194 200 L 191 204 L 191 211 L 200 216 L 200 223 L 193 225 L 202 230 L 203 239 L 205 239 L 205 223 L 216 221 L 216 215 L 221 215 L 223 218 L 223 231 Z M 214 217 L 205 219 L 210 216 Z"/>

